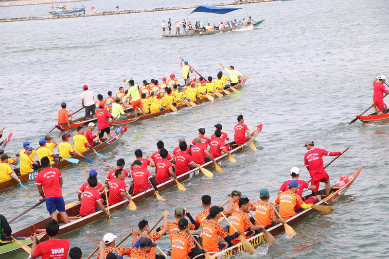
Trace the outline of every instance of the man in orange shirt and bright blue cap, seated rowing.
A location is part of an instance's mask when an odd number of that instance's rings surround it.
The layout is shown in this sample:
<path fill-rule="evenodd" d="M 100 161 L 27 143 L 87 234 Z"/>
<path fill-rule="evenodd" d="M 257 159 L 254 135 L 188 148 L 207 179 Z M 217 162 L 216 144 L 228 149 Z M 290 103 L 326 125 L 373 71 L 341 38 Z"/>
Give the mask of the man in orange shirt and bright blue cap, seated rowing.
<path fill-rule="evenodd" d="M 304 203 L 301 197 L 296 194 L 299 190 L 299 186 L 301 186 L 301 184 L 299 184 L 296 180 L 290 180 L 288 190 L 285 190 L 283 193 L 278 195 L 277 199 L 274 201 L 274 206 L 280 205 L 280 216 L 283 220 L 288 220 L 297 214 L 295 211 L 296 205 L 300 206 L 302 209 L 312 207 L 312 204 Z"/>

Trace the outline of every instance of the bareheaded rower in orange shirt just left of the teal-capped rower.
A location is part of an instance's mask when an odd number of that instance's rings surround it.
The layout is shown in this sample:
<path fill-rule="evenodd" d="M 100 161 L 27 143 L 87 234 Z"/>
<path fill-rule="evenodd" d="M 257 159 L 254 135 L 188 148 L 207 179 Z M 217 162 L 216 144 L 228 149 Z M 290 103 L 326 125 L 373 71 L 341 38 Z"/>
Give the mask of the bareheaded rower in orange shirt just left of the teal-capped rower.
<path fill-rule="evenodd" d="M 242 235 L 244 238 L 248 239 L 252 237 L 255 234 L 255 230 L 263 229 L 265 228 L 263 225 L 253 225 L 250 222 L 250 219 L 247 215 L 250 207 L 248 206 L 249 200 L 247 197 L 242 197 L 239 199 L 239 209 L 232 211 L 231 214 L 231 225 L 235 227 L 237 231 L 240 231 L 242 234 L 245 233 L 245 231 L 248 231 L 244 235 Z M 235 234 L 235 229 L 230 225 L 230 235 Z M 240 240 L 232 240 L 232 244 L 239 243 Z"/>

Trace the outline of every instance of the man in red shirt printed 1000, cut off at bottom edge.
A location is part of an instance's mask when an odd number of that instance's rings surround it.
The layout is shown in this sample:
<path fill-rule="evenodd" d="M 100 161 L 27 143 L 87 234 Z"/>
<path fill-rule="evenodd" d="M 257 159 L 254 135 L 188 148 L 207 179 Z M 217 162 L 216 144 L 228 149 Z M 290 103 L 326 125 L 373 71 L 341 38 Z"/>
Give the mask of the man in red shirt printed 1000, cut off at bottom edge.
<path fill-rule="evenodd" d="M 51 220 L 46 224 L 46 233 L 49 240 L 45 242 L 39 242 L 35 233 L 31 236 L 33 241 L 31 259 L 40 256 L 42 259 L 67 259 L 70 244 L 66 239 L 58 239 L 59 224 L 55 220 Z"/>

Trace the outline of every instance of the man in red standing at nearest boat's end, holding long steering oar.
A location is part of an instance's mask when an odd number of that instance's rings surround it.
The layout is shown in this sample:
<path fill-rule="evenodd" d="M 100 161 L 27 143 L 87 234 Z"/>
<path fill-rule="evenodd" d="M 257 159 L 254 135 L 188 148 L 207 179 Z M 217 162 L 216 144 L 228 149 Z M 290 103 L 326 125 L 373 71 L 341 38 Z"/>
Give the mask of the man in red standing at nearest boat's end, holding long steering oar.
<path fill-rule="evenodd" d="M 325 193 L 330 195 L 331 185 L 330 185 L 330 176 L 325 172 L 323 165 L 323 155 L 342 155 L 342 152 L 329 152 L 324 149 L 315 148 L 315 144 L 312 139 L 305 141 L 307 153 L 304 155 L 304 164 L 309 174 L 311 175 L 311 184 L 316 186 L 315 190 L 312 190 L 312 195 L 318 195 L 320 182 L 325 183 Z"/>

